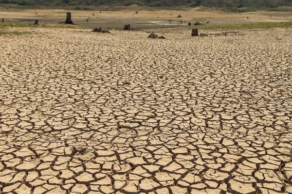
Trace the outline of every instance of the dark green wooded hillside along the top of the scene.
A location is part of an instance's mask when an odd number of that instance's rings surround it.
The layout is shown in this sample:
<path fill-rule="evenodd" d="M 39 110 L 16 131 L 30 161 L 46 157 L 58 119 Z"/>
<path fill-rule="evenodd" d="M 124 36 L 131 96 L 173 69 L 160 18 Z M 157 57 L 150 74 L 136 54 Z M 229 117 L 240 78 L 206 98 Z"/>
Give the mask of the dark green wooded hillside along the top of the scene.
<path fill-rule="evenodd" d="M 172 7 L 172 6 L 206 6 L 227 8 L 276 8 L 278 6 L 292 6 L 292 0 L 0 0 L 0 3 L 18 5 L 109 5 L 109 6 L 139 6 Z"/>

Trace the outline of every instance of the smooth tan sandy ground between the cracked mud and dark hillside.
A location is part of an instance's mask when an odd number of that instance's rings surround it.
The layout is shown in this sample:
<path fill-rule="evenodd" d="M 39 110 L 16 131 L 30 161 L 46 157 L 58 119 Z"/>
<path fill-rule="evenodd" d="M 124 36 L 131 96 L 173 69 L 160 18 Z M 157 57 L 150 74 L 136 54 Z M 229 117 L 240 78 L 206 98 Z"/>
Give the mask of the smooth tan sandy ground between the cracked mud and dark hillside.
<path fill-rule="evenodd" d="M 139 10 L 129 8 L 121 11 L 70 11 L 72 20 L 79 26 L 86 28 L 101 27 L 103 29 L 123 29 L 131 24 L 134 29 L 188 27 L 200 21 L 204 25 L 254 23 L 263 21 L 292 21 L 291 12 L 252 12 L 231 14 L 203 7 L 188 10 Z M 137 8 L 138 10 L 139 8 Z M 66 19 L 66 10 L 0 10 L 0 18 L 5 22 L 34 23 L 38 19 L 40 24 L 55 24 Z M 36 15 L 37 13 L 37 15 Z M 92 16 L 94 13 L 94 16 Z M 182 18 L 177 16 L 181 15 Z M 270 17 L 272 16 L 272 17 Z M 249 17 L 249 19 L 247 19 Z M 88 22 L 86 20 L 89 19 Z M 171 21 L 169 21 L 171 20 Z M 182 20 L 182 23 L 181 23 Z M 206 22 L 209 21 L 207 24 Z"/>

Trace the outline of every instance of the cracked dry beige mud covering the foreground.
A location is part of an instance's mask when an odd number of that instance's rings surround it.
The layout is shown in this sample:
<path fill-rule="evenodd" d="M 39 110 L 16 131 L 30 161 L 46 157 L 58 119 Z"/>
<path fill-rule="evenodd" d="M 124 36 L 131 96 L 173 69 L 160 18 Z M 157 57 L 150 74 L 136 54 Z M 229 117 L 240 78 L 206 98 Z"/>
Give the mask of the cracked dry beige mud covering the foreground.
<path fill-rule="evenodd" d="M 291 29 L 85 31 L 0 36 L 3 194 L 292 193 Z"/>

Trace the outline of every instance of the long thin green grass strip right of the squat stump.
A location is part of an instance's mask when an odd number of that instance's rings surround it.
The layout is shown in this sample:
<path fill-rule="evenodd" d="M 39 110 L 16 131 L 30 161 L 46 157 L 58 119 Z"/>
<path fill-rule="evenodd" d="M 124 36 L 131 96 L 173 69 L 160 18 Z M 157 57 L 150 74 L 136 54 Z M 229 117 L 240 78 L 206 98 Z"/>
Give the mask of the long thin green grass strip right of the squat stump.
<path fill-rule="evenodd" d="M 254 28 L 292 28 L 292 22 L 260 22 L 249 24 L 228 24 L 216 26 L 199 26 L 200 29 L 254 29 Z M 192 29 L 195 29 L 192 28 Z"/>

